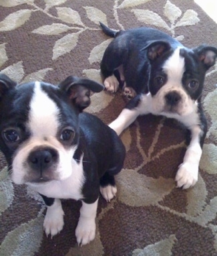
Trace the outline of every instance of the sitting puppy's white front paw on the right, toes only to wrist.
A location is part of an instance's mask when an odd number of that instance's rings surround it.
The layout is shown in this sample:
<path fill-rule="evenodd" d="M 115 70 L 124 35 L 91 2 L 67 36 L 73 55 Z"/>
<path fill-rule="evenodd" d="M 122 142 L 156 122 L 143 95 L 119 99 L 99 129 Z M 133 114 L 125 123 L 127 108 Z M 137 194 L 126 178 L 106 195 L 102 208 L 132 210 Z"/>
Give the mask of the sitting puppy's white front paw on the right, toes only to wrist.
<path fill-rule="evenodd" d="M 80 216 L 75 236 L 79 246 L 87 245 L 95 239 L 95 218 L 87 219 Z"/>

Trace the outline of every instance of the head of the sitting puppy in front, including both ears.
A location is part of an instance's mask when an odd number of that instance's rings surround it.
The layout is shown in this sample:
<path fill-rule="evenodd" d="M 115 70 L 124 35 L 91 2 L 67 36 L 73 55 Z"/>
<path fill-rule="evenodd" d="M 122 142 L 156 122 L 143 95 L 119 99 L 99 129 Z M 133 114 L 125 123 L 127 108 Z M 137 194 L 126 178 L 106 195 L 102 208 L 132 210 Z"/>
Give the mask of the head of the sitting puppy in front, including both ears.
<path fill-rule="evenodd" d="M 79 113 L 103 86 L 69 76 L 59 86 L 16 85 L 0 74 L 0 149 L 16 184 L 64 180 L 73 170 Z"/>

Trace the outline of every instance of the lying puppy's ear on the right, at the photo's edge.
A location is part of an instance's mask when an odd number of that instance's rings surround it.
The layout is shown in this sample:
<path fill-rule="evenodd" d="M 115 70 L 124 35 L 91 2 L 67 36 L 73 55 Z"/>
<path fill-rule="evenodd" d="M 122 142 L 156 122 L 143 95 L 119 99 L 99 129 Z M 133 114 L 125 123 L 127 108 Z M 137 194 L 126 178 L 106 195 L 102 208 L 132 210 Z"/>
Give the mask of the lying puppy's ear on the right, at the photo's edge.
<path fill-rule="evenodd" d="M 198 46 L 193 51 L 198 55 L 199 60 L 204 64 L 206 70 L 216 63 L 217 48 L 212 46 Z"/>

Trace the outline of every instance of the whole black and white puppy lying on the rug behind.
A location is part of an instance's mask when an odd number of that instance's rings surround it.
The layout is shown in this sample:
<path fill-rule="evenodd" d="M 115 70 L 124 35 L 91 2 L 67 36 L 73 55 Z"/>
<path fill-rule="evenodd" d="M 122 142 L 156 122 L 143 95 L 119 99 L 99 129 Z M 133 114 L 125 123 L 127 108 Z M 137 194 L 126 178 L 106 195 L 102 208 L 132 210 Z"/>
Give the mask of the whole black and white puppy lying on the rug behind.
<path fill-rule="evenodd" d="M 182 188 L 194 186 L 207 129 L 201 95 L 206 71 L 215 64 L 217 49 L 204 45 L 189 49 L 164 32 L 148 27 L 126 31 L 114 31 L 102 23 L 101 27 L 107 36 L 114 37 L 101 61 L 105 88 L 116 92 L 122 83 L 126 94 L 134 98 L 110 127 L 120 135 L 139 115 L 148 113 L 183 123 L 191 139 L 176 182 Z"/>

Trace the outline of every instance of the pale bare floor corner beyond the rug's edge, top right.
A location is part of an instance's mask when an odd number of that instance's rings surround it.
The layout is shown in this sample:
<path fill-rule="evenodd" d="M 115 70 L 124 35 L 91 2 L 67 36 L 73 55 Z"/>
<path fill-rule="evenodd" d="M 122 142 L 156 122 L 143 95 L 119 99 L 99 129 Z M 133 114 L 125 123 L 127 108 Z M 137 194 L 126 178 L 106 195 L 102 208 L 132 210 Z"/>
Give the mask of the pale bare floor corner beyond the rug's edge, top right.
<path fill-rule="evenodd" d="M 195 3 L 206 11 L 206 13 L 217 23 L 217 1 L 216 0 L 194 0 Z"/>

